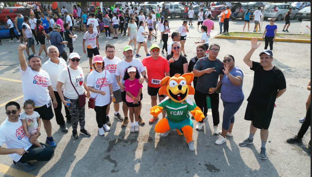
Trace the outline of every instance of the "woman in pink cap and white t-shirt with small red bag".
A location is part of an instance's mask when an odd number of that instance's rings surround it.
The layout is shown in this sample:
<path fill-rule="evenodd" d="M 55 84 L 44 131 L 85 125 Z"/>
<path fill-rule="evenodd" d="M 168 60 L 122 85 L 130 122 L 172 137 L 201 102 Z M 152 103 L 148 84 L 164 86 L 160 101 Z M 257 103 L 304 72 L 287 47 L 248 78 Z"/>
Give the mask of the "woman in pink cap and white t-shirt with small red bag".
<path fill-rule="evenodd" d="M 114 101 L 113 78 L 110 77 L 110 72 L 104 68 L 103 58 L 100 55 L 95 55 L 93 57 L 93 71 L 88 75 L 87 81 L 88 89 L 91 91 L 90 97 L 95 99 L 94 110 L 101 136 L 105 134 L 104 129 L 110 131 L 110 127 L 107 125 L 109 120 L 106 117 L 106 109 L 110 101 Z"/>

